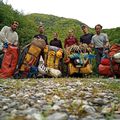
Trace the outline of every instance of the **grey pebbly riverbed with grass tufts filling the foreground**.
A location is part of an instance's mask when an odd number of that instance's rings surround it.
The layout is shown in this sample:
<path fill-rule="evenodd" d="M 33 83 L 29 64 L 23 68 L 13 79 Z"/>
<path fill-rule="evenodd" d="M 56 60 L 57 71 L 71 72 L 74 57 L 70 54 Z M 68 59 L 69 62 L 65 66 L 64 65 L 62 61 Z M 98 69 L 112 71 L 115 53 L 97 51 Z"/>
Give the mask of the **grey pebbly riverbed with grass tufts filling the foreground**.
<path fill-rule="evenodd" d="M 0 80 L 0 120 L 120 120 L 119 80 Z"/>

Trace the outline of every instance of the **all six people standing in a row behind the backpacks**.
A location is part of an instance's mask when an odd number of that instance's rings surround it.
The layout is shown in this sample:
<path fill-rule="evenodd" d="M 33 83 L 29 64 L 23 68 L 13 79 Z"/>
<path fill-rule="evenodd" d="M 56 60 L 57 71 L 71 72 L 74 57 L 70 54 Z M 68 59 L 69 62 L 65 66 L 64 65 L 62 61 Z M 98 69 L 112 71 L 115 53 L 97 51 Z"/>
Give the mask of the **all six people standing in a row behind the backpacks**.
<path fill-rule="evenodd" d="M 2 54 L 2 49 L 5 43 L 12 44 L 15 46 L 19 45 L 18 40 L 18 34 L 16 32 L 16 29 L 18 28 L 19 23 L 17 21 L 13 21 L 10 25 L 4 26 L 0 31 L 0 54 Z M 98 68 L 98 65 L 100 64 L 103 52 L 105 49 L 109 48 L 109 40 L 108 36 L 105 33 L 102 33 L 102 26 L 100 24 L 97 24 L 95 26 L 95 34 L 90 33 L 87 25 L 82 25 L 81 29 L 83 31 L 83 35 L 80 36 L 80 40 L 77 40 L 77 38 L 74 35 L 73 30 L 68 31 L 68 36 L 64 40 L 64 49 L 67 47 L 73 45 L 73 44 L 79 44 L 79 43 L 85 43 L 89 47 L 94 48 L 95 54 L 96 54 L 96 66 Z M 53 40 L 48 43 L 47 36 L 44 35 L 44 26 L 43 24 L 40 24 L 39 26 L 39 34 L 35 35 L 34 38 L 42 38 L 45 40 L 46 44 L 51 46 L 56 46 L 59 48 L 62 48 L 62 42 L 58 38 L 58 33 L 53 33 Z"/>

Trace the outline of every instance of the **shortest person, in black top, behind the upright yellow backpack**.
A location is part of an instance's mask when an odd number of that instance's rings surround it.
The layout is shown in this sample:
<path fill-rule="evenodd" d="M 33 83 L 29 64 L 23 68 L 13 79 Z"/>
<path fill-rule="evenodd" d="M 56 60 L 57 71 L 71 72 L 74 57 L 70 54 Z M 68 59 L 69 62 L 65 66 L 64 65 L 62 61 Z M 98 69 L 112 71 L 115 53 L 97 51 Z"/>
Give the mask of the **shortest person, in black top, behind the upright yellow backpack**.
<path fill-rule="evenodd" d="M 61 40 L 58 39 L 58 33 L 53 33 L 53 40 L 50 41 L 51 46 L 56 46 L 58 48 L 62 48 Z"/>

